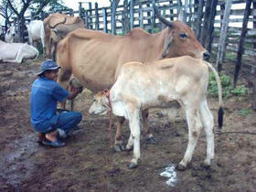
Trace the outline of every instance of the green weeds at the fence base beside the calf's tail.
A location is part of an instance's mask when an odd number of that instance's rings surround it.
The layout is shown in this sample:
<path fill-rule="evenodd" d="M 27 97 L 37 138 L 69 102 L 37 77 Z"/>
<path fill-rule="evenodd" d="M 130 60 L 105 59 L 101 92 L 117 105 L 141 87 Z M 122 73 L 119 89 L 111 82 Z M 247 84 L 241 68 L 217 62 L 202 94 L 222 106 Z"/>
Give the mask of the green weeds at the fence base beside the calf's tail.
<path fill-rule="evenodd" d="M 247 94 L 248 89 L 244 85 L 239 85 L 233 89 L 233 86 L 231 85 L 231 78 L 229 76 L 220 74 L 219 79 L 221 81 L 222 94 L 224 98 L 229 98 L 230 96 L 242 97 Z M 212 72 L 209 73 L 208 94 L 214 97 L 218 97 L 217 82 Z"/>

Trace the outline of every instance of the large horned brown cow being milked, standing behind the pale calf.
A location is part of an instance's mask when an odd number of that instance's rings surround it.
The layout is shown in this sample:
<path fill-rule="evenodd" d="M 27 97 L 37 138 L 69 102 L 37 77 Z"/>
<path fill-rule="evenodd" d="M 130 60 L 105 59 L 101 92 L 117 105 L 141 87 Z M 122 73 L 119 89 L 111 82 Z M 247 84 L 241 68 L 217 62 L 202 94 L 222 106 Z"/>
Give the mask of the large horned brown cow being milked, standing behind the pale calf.
<path fill-rule="evenodd" d="M 70 32 L 57 45 L 56 61 L 62 67 L 59 83 L 67 88 L 69 77 L 73 74 L 86 88 L 101 91 L 112 87 L 121 67 L 129 61 L 155 61 L 185 55 L 203 59 L 209 56 L 190 27 L 180 21 L 167 21 L 159 15 L 156 7 L 155 13 L 168 26 L 156 34 L 149 34 L 140 28 L 134 28 L 123 37 L 81 28 Z M 147 116 L 148 112 L 143 111 L 145 133 L 155 142 L 148 131 Z M 123 117 L 118 117 L 116 149 L 123 149 L 123 121 Z"/>

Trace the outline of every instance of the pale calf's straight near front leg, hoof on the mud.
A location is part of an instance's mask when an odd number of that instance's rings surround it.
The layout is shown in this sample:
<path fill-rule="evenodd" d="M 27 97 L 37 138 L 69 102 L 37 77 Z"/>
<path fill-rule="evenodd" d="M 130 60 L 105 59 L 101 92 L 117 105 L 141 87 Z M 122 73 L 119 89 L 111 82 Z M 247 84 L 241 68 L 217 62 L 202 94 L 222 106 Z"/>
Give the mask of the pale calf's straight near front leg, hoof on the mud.
<path fill-rule="evenodd" d="M 130 107 L 132 108 L 132 107 Z M 130 169 L 136 168 L 138 165 L 138 160 L 141 156 L 140 152 L 140 117 L 139 110 L 137 109 L 129 109 L 130 118 L 129 118 L 129 127 L 133 137 L 133 159 L 128 165 Z"/>

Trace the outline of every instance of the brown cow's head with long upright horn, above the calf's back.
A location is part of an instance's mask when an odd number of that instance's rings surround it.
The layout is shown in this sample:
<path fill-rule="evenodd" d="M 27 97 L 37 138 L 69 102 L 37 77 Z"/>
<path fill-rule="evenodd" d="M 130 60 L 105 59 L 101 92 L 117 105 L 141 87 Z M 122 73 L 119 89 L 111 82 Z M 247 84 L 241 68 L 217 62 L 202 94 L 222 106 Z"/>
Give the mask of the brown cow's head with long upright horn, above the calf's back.
<path fill-rule="evenodd" d="M 208 50 L 202 47 L 194 31 L 181 21 L 170 22 L 161 16 L 158 8 L 153 4 L 155 15 L 168 28 L 165 32 L 163 58 L 191 56 L 196 59 L 208 59 Z"/>

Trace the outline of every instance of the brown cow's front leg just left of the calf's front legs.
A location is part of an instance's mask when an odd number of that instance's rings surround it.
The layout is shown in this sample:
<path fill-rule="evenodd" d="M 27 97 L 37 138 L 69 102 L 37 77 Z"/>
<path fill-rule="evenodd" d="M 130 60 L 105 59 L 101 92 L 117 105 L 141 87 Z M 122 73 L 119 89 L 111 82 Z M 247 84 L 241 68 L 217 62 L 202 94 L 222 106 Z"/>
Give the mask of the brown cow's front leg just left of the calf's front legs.
<path fill-rule="evenodd" d="M 115 152 L 121 152 L 124 150 L 121 133 L 122 133 L 122 127 L 125 119 L 124 117 L 121 117 L 121 116 L 117 116 L 116 119 L 117 119 L 117 127 L 116 127 L 116 133 L 114 137 L 113 149 Z"/>

